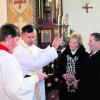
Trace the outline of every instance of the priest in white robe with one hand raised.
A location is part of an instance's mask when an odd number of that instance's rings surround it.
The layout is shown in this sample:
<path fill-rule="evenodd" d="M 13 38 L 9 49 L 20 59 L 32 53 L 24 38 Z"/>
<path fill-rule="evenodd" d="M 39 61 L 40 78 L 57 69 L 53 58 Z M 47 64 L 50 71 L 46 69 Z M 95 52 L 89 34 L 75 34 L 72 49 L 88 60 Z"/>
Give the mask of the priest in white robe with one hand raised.
<path fill-rule="evenodd" d="M 36 73 L 42 71 L 42 68 L 58 57 L 56 49 L 58 48 L 61 38 L 58 36 L 54 39 L 52 47 L 48 46 L 45 49 L 40 49 L 35 45 L 36 30 L 32 25 L 25 25 L 22 28 L 22 35 L 18 41 L 18 46 L 14 49 L 13 54 L 21 64 L 23 74 Z M 37 93 L 33 96 L 33 100 L 45 100 L 45 85 L 44 81 L 37 86 Z M 36 87 L 36 90 L 37 90 Z"/>

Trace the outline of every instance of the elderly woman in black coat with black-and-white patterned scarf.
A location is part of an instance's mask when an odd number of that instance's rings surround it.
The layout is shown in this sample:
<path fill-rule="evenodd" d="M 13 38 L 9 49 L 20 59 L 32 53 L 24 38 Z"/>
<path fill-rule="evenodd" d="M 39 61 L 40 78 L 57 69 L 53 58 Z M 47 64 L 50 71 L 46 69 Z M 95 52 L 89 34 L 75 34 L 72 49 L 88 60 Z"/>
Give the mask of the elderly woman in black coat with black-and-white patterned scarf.
<path fill-rule="evenodd" d="M 88 53 L 82 44 L 82 36 L 73 32 L 68 41 L 68 46 L 61 54 L 58 61 L 57 74 L 61 78 L 60 100 L 75 100 L 76 83 L 81 77 L 81 66 L 88 58 Z M 74 82 L 74 80 L 77 82 Z"/>

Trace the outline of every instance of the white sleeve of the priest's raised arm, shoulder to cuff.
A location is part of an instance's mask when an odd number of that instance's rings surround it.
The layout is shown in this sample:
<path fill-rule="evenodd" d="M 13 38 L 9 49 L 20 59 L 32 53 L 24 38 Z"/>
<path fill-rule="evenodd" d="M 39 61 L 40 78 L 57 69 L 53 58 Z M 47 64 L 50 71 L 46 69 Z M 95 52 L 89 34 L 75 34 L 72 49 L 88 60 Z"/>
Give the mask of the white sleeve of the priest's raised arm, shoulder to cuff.
<path fill-rule="evenodd" d="M 56 49 L 50 46 L 42 50 L 43 52 L 38 53 L 37 56 L 34 56 L 34 54 L 29 54 L 24 51 L 24 49 L 17 47 L 14 50 L 13 54 L 20 62 L 21 67 L 24 67 L 24 69 L 26 68 L 26 70 L 29 71 L 40 70 L 42 67 L 48 65 L 50 62 L 58 57 Z"/>

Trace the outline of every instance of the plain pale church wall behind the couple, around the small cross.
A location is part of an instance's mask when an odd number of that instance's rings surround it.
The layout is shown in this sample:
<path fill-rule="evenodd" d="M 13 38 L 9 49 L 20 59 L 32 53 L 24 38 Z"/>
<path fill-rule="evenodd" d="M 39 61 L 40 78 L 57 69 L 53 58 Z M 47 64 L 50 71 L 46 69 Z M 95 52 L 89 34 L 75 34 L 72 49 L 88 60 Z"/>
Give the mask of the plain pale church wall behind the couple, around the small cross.
<path fill-rule="evenodd" d="M 85 9 L 82 9 L 84 3 L 88 1 L 92 9 L 86 13 Z M 88 37 L 92 32 L 100 32 L 100 0 L 63 0 L 64 15 L 69 15 L 68 24 L 69 27 L 82 33 L 84 39 L 84 45 L 88 48 Z"/>

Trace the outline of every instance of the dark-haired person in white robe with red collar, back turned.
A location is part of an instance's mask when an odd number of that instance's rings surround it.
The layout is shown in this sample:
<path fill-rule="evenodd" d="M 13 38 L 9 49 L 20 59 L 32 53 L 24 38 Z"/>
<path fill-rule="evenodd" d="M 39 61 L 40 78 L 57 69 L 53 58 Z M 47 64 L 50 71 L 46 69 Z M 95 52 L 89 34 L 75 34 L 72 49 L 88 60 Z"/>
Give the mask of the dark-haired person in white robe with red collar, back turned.
<path fill-rule="evenodd" d="M 32 100 L 35 85 L 43 73 L 24 78 L 19 62 L 12 51 L 17 45 L 19 29 L 13 24 L 0 28 L 0 100 Z"/>

